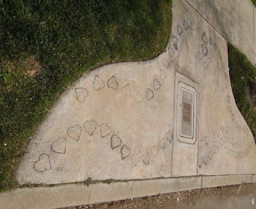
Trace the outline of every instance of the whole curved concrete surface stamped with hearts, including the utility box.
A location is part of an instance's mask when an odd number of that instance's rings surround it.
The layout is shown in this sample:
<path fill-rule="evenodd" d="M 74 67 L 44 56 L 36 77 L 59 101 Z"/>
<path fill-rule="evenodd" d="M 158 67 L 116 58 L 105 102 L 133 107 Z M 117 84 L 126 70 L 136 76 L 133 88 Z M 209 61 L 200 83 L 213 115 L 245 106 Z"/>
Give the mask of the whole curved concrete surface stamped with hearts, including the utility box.
<path fill-rule="evenodd" d="M 90 71 L 51 112 L 20 161 L 20 184 L 256 174 L 227 41 L 186 1 L 173 1 L 163 54 Z"/>

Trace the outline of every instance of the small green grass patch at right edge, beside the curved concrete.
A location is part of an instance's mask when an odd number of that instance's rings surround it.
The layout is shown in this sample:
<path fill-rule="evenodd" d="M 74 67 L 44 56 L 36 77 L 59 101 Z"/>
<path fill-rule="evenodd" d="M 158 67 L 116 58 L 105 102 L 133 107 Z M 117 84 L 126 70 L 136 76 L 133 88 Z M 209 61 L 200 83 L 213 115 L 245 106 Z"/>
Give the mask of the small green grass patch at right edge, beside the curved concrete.
<path fill-rule="evenodd" d="M 256 86 L 256 68 L 231 44 L 228 45 L 228 66 L 236 104 L 256 139 L 256 111 L 248 99 L 250 83 Z"/>

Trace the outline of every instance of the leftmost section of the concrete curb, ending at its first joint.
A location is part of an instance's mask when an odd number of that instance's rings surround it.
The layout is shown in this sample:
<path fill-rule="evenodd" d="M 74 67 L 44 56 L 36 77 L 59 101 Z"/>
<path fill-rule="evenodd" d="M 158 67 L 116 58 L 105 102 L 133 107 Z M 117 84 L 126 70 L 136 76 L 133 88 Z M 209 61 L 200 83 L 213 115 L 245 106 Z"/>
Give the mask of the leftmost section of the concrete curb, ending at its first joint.
<path fill-rule="evenodd" d="M 84 184 L 15 189 L 0 194 L 0 208 L 61 208 L 86 205 L 90 188 Z"/>

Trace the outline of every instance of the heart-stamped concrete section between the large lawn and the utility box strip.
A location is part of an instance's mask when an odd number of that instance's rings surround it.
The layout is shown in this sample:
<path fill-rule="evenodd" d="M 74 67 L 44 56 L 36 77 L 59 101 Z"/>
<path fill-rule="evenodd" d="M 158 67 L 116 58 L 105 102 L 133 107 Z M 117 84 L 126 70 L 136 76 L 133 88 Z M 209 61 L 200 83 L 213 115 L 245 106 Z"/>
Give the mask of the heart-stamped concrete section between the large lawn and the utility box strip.
<path fill-rule="evenodd" d="M 174 71 L 166 55 L 107 65 L 72 83 L 31 139 L 20 184 L 170 177 Z"/>

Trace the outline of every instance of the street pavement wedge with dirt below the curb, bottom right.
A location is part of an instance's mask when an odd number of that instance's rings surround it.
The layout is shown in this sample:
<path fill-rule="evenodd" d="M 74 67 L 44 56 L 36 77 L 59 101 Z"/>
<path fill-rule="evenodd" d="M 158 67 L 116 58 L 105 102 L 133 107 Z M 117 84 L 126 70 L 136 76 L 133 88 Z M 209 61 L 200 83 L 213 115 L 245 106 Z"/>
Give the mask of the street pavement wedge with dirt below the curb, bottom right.
<path fill-rule="evenodd" d="M 147 198 L 100 203 L 95 205 L 68 207 L 81 208 L 172 208 L 172 209 L 244 209 L 255 208 L 256 184 L 242 184 L 213 189 L 195 189 L 193 191 L 160 194 Z"/>

